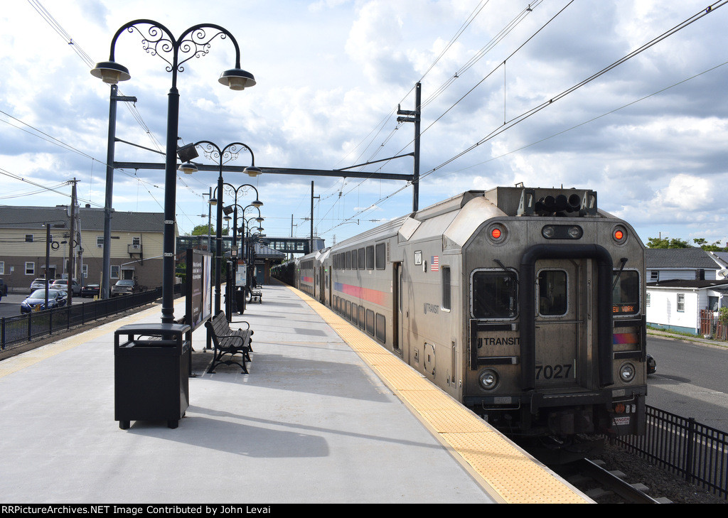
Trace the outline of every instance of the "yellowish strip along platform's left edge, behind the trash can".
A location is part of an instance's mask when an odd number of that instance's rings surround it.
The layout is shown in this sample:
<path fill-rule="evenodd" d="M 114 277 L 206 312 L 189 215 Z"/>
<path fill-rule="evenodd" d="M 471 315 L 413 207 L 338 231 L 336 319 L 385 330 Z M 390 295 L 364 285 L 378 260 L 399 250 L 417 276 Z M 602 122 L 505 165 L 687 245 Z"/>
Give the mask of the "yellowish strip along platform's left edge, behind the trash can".
<path fill-rule="evenodd" d="M 184 300 L 184 299 L 181 299 Z M 94 338 L 106 335 L 111 330 L 116 330 L 118 327 L 127 324 L 133 324 L 143 318 L 149 317 L 149 312 L 153 311 L 159 313 L 159 304 L 154 304 L 151 308 L 139 311 L 138 313 L 125 316 L 119 320 L 111 320 L 106 324 L 102 324 L 99 327 L 94 327 L 92 330 L 80 332 L 77 335 L 72 335 L 67 338 L 61 338 L 57 342 L 49 343 L 46 346 L 33 349 L 17 356 L 10 356 L 0 362 L 0 378 L 17 372 L 18 370 L 30 367 L 33 364 L 41 362 L 46 358 L 60 354 L 63 351 L 68 351 L 74 347 L 80 346 L 82 343 L 87 343 Z"/>

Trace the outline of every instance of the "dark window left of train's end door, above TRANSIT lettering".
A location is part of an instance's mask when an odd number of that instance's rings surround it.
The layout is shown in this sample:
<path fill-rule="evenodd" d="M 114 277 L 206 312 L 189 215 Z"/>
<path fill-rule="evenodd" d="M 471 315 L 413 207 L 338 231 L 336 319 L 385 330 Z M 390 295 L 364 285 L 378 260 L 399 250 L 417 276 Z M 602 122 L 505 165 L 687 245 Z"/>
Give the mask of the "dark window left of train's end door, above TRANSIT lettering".
<path fill-rule="evenodd" d="M 513 272 L 476 271 L 472 275 L 472 316 L 513 319 L 518 312 L 518 282 Z"/>

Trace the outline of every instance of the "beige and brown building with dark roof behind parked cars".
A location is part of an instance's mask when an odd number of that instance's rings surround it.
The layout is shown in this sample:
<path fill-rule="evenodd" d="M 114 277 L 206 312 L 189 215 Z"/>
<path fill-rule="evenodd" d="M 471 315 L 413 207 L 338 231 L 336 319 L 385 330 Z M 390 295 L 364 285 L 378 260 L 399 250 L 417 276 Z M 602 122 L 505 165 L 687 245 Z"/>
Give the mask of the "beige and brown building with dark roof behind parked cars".
<path fill-rule="evenodd" d="M 50 278 L 68 278 L 71 255 L 79 284 L 101 284 L 104 211 L 79 207 L 75 219 L 72 243 L 69 207 L 0 207 L 0 277 L 12 292 L 30 291 L 46 267 Z M 163 233 L 162 213 L 113 212 L 109 285 L 137 279 L 143 287 L 161 286 Z"/>

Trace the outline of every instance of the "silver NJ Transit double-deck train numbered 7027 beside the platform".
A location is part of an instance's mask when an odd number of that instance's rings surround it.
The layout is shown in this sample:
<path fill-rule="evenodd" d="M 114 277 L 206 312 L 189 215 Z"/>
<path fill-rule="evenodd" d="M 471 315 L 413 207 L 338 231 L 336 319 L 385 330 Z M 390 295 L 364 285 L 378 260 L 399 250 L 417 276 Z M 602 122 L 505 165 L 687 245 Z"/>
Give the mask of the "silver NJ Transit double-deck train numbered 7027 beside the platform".
<path fill-rule="evenodd" d="M 644 434 L 644 244 L 590 190 L 498 187 L 280 266 L 510 437 Z"/>

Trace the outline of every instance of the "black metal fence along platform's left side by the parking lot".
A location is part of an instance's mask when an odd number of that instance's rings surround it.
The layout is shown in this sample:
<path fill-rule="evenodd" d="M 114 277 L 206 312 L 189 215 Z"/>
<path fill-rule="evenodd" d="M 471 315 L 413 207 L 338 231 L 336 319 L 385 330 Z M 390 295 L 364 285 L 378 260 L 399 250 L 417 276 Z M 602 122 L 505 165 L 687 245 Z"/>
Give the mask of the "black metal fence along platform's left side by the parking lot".
<path fill-rule="evenodd" d="M 179 288 L 175 286 L 175 292 Z M 162 297 L 162 288 L 62 308 L 33 311 L 0 319 L 0 350 L 19 346 L 35 338 L 87 324 L 127 309 L 144 306 Z"/>

